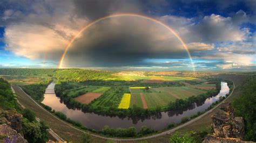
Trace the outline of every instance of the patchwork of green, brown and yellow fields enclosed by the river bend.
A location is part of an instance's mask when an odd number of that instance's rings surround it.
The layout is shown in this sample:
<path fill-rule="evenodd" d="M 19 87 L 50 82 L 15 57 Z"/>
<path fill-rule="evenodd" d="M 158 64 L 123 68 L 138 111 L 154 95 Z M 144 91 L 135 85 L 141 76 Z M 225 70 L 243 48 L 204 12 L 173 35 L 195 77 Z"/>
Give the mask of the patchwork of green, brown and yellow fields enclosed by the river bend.
<path fill-rule="evenodd" d="M 215 89 L 214 82 L 195 77 L 176 76 L 136 76 L 119 75 L 133 78 L 131 81 L 89 81 L 71 83 L 65 95 L 76 101 L 88 104 L 93 110 L 129 109 L 138 106 L 143 109 L 166 108 L 176 99 L 198 96 Z M 161 82 L 144 82 L 161 81 Z M 73 85 L 72 85 L 73 84 Z"/>

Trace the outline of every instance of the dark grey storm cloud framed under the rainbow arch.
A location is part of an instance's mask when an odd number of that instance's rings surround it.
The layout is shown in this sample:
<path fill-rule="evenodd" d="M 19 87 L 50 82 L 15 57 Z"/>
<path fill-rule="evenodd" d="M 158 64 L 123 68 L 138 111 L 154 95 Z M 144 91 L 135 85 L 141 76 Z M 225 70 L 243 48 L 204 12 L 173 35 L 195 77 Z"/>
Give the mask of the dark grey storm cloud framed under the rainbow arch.
<path fill-rule="evenodd" d="M 129 23 L 130 21 L 133 23 Z M 143 60 L 188 58 L 180 41 L 166 28 L 139 18 L 115 18 L 90 27 L 73 42 L 66 62 L 83 66 L 141 65 Z"/>

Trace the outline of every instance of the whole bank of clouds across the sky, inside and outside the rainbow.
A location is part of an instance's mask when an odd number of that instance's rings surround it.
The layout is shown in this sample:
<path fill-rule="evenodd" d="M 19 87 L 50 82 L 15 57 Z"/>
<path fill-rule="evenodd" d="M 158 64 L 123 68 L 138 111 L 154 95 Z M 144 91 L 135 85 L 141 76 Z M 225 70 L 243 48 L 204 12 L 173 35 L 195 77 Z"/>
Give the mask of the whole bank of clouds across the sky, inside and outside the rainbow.
<path fill-rule="evenodd" d="M 70 39 L 93 20 L 118 12 L 156 13 L 165 6 L 176 5 L 176 2 L 0 2 L 3 4 L 8 5 L 0 6 L 0 22 L 5 27 L 5 50 L 31 60 L 58 61 Z M 214 63 L 220 69 L 255 65 L 256 34 L 241 26 L 253 23 L 254 15 L 239 10 L 230 16 L 212 13 L 189 18 L 175 15 L 152 17 L 171 26 L 184 39 L 194 59 L 221 60 Z M 119 17 L 99 22 L 84 31 L 70 47 L 64 65 L 150 66 L 145 59 L 187 58 L 180 41 L 163 26 L 140 18 Z M 158 62 L 151 63 L 151 66 L 178 67 L 179 64 Z M 204 63 L 200 64 L 204 67 Z"/>

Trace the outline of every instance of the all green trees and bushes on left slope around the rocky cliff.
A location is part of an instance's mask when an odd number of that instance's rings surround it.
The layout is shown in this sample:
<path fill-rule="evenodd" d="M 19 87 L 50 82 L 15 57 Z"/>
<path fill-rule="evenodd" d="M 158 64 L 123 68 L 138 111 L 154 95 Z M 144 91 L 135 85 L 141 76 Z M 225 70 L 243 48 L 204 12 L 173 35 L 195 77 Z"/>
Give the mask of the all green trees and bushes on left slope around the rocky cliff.
<path fill-rule="evenodd" d="M 24 138 L 29 142 L 46 142 L 49 140 L 49 136 L 46 130 L 49 128 L 43 121 L 36 121 L 35 113 L 28 109 L 22 110 L 19 108 L 16 97 L 12 94 L 11 85 L 0 78 L 0 111 L 5 112 L 0 114 L 1 116 L 7 116 L 5 114 L 12 112 L 19 112 L 23 115 L 21 120 L 22 130 L 19 133 L 24 135 Z M 8 112 L 6 112 L 8 111 Z M 6 138 L 0 135 L 0 139 Z"/>

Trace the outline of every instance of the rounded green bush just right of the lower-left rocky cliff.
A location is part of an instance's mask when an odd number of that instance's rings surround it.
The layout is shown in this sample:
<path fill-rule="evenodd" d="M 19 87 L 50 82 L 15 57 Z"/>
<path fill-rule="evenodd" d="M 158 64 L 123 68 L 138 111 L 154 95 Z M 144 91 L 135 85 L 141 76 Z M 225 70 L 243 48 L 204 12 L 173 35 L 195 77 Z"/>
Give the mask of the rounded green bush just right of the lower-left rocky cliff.
<path fill-rule="evenodd" d="M 22 119 L 22 132 L 24 138 L 29 142 L 46 142 L 49 137 L 46 129 L 49 127 L 44 122 L 30 122 L 28 119 Z"/>

